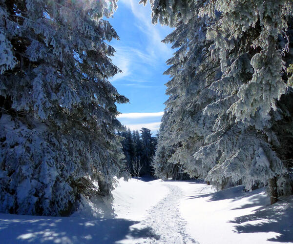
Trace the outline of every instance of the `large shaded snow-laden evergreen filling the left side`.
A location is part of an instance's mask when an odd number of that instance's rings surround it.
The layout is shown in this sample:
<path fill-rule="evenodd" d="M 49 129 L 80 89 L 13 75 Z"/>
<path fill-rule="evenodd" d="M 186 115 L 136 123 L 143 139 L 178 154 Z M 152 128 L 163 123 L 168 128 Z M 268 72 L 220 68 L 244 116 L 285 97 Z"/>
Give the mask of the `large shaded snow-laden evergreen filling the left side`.
<path fill-rule="evenodd" d="M 60 215 L 124 172 L 116 0 L 0 0 L 0 212 Z"/>

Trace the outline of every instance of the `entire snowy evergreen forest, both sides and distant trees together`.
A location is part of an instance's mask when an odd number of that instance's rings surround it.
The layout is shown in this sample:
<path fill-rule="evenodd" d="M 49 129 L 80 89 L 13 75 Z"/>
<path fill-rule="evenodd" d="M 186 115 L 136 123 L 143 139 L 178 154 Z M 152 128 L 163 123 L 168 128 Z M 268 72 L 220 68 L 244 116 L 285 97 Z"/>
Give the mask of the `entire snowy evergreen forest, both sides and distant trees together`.
<path fill-rule="evenodd" d="M 0 0 L 0 213 L 70 216 L 141 176 L 293 195 L 293 1 L 139 3 L 172 28 L 157 137 L 117 119 L 118 0 Z"/>

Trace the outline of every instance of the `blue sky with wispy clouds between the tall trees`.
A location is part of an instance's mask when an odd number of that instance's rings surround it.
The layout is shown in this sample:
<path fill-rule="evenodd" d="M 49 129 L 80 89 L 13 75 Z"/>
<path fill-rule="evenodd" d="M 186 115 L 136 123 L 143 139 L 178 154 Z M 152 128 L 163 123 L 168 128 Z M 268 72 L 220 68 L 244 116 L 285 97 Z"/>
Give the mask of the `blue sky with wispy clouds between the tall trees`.
<path fill-rule="evenodd" d="M 161 42 L 171 31 L 169 27 L 151 24 L 151 10 L 139 0 L 119 0 L 114 18 L 109 19 L 120 41 L 111 41 L 116 49 L 112 61 L 123 73 L 110 81 L 130 103 L 118 104 L 119 120 L 133 129 L 146 127 L 156 134 L 167 100 L 168 76 L 166 61 L 172 57 L 170 45 Z"/>

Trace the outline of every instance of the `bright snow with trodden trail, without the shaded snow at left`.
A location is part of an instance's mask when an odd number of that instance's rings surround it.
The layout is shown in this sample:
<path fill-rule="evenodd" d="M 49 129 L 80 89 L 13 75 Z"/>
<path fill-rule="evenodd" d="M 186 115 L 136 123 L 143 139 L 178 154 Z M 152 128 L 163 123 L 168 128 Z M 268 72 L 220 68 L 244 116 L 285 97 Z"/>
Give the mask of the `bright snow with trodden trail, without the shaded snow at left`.
<path fill-rule="evenodd" d="M 292 203 L 270 206 L 263 189 L 131 179 L 113 195 L 117 217 L 138 221 L 117 244 L 293 244 Z"/>

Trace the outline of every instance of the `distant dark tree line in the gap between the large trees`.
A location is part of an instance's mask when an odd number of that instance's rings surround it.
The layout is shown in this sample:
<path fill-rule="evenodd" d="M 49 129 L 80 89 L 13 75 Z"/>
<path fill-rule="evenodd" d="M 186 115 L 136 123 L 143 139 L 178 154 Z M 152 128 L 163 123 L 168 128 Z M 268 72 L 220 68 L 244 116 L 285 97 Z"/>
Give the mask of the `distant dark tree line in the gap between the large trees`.
<path fill-rule="evenodd" d="M 157 137 L 152 137 L 150 129 L 142 128 L 131 132 L 125 127 L 118 135 L 123 137 L 122 146 L 125 154 L 126 168 L 132 176 L 153 175 L 152 159 L 155 154 Z"/>

